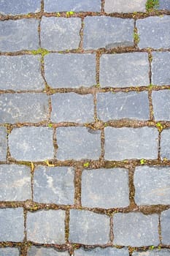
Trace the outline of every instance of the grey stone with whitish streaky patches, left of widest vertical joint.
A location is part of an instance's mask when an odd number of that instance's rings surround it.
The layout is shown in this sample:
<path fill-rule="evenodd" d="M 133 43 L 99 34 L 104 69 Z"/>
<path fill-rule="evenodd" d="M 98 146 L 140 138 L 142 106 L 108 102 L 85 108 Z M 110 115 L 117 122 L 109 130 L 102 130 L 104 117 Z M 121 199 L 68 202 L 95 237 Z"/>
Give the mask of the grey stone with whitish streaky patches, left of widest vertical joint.
<path fill-rule="evenodd" d="M 36 167 L 34 202 L 73 204 L 74 170 L 72 167 Z"/>

